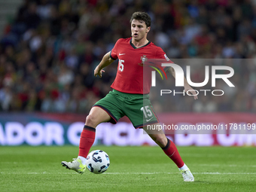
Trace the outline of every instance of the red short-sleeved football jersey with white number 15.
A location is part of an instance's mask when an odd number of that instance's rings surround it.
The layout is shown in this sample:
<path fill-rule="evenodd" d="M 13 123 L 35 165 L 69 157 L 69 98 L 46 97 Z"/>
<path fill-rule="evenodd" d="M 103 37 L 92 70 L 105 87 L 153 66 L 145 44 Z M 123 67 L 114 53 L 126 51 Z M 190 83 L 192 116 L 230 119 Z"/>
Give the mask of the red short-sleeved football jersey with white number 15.
<path fill-rule="evenodd" d="M 120 38 L 110 53 L 111 59 L 119 59 L 117 76 L 111 88 L 123 93 L 148 94 L 151 89 L 151 68 L 139 65 L 147 59 L 166 59 L 166 53 L 151 41 L 142 47 L 135 47 L 132 38 Z M 147 73 L 147 74 L 145 74 Z"/>

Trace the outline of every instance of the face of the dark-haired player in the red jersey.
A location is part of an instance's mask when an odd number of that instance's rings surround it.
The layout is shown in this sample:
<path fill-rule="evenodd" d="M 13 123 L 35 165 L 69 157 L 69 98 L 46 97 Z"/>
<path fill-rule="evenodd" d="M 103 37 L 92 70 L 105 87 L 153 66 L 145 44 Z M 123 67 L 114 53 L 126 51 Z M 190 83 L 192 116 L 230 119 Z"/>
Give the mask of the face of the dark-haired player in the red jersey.
<path fill-rule="evenodd" d="M 147 38 L 149 30 L 150 27 L 147 27 L 144 21 L 132 20 L 131 31 L 132 37 L 135 41 L 140 41 L 144 38 Z"/>

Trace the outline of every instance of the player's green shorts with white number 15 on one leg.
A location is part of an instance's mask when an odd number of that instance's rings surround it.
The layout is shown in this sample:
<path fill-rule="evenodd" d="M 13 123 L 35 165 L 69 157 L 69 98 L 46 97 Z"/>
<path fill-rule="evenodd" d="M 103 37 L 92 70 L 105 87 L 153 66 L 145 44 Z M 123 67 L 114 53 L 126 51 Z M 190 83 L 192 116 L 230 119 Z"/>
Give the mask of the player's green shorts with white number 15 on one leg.
<path fill-rule="evenodd" d="M 159 123 L 148 94 L 131 94 L 112 90 L 93 107 L 105 110 L 111 117 L 109 122 L 114 124 L 123 116 L 127 116 L 136 129 Z"/>

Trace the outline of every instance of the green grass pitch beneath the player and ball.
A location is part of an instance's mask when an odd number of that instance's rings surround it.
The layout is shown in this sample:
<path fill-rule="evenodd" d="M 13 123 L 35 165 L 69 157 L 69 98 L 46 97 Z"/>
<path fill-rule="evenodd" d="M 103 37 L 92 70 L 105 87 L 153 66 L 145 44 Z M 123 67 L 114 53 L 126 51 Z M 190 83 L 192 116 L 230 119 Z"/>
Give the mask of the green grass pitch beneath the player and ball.
<path fill-rule="evenodd" d="M 0 147 L 0 191 L 256 191 L 256 148 L 178 147 L 194 173 L 184 182 L 158 147 L 96 146 L 110 157 L 107 172 L 79 175 L 62 167 L 78 147 Z"/>

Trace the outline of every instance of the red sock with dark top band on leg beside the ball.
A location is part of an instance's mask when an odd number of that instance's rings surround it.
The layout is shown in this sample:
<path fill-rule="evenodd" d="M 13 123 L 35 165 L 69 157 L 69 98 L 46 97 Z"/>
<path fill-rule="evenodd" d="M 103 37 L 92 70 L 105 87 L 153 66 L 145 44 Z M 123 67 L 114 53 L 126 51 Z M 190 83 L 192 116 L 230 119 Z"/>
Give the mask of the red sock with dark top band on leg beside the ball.
<path fill-rule="evenodd" d="M 93 146 L 93 142 L 95 139 L 95 131 L 96 129 L 91 126 L 84 126 L 84 130 L 80 136 L 80 144 L 79 144 L 79 154 L 78 156 L 87 157 L 87 154 L 90 151 L 90 148 Z"/>

